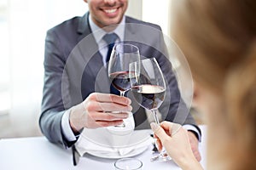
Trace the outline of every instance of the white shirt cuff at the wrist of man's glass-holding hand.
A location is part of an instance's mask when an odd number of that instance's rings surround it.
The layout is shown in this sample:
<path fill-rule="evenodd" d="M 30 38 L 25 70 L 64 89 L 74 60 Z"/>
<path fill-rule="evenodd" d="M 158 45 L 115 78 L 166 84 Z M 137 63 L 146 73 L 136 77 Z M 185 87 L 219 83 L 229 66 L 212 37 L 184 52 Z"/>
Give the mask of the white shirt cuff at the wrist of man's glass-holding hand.
<path fill-rule="evenodd" d="M 61 128 L 62 133 L 64 134 L 67 141 L 72 142 L 76 140 L 76 136 L 74 135 L 73 130 L 69 124 L 69 114 L 70 110 L 65 111 L 65 113 L 63 114 L 61 118 Z"/>

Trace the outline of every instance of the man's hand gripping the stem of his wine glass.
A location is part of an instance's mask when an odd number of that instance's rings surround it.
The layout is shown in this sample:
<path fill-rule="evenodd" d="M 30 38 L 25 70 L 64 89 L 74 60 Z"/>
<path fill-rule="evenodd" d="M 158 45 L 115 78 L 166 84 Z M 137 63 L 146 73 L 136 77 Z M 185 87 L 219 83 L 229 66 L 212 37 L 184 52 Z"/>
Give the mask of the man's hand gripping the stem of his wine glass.
<path fill-rule="evenodd" d="M 84 101 L 71 108 L 69 122 L 73 132 L 83 127 L 116 126 L 123 123 L 132 110 L 131 99 L 114 94 L 90 94 Z M 118 113 L 114 113 L 118 112 Z"/>

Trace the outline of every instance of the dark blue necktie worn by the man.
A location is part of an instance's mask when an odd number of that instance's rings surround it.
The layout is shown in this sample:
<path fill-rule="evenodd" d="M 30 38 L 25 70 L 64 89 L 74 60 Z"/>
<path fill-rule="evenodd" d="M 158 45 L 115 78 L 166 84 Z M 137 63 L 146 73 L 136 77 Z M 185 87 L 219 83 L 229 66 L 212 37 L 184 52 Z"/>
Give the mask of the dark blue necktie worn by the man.
<path fill-rule="evenodd" d="M 107 54 L 107 58 L 106 58 L 106 63 L 108 65 L 108 61 L 110 59 L 110 55 L 111 55 L 111 52 L 112 52 L 112 49 L 113 49 L 113 45 L 114 45 L 114 42 L 115 40 L 118 38 L 118 36 L 115 34 L 115 33 L 111 33 L 111 34 L 106 34 L 104 37 L 103 37 L 103 40 L 105 42 L 107 42 L 108 44 L 108 54 Z M 108 68 L 108 66 L 107 66 Z M 108 69 L 107 69 L 108 70 Z M 116 88 L 113 88 L 112 84 L 110 85 L 110 93 L 111 94 L 117 94 L 119 95 L 119 90 L 117 90 Z"/>

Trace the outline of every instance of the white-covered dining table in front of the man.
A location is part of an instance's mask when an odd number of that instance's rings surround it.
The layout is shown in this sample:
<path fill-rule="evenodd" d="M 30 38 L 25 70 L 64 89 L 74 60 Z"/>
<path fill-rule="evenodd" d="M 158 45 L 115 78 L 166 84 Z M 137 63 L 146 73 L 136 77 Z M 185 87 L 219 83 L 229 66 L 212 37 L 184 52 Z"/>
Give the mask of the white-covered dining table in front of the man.
<path fill-rule="evenodd" d="M 207 160 L 207 126 L 200 125 L 201 165 L 206 167 Z M 137 156 L 132 156 L 143 162 L 143 170 L 150 169 L 181 169 L 174 161 L 150 161 L 152 146 Z M 44 136 L 0 139 L 0 169 L 1 170 L 114 170 L 117 159 L 102 158 L 85 154 L 79 157 L 77 166 L 73 166 L 71 148 L 61 148 L 52 144 Z"/>

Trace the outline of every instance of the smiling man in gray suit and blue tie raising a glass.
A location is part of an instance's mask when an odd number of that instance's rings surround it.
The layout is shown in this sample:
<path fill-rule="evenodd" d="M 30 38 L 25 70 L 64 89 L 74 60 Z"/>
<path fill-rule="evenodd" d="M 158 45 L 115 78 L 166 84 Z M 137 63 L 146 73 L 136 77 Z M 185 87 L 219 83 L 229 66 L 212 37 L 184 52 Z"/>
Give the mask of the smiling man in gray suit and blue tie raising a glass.
<path fill-rule="evenodd" d="M 84 127 L 119 125 L 127 118 L 126 111 L 131 110 L 136 127 L 149 128 L 144 109 L 134 102 L 131 94 L 127 94 L 129 99 L 109 93 L 105 60 L 108 44 L 103 37 L 115 33 L 115 42 L 130 42 L 142 56 L 158 60 L 167 82 L 166 100 L 160 107 L 162 119 L 188 127 L 191 147 L 200 160 L 197 147 L 201 132 L 181 99 L 160 26 L 125 16 L 127 0 L 84 2 L 89 5 L 89 13 L 47 32 L 39 120 L 44 135 L 53 143 L 70 147 Z"/>

